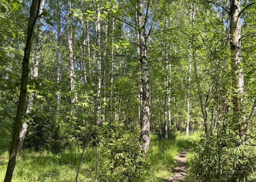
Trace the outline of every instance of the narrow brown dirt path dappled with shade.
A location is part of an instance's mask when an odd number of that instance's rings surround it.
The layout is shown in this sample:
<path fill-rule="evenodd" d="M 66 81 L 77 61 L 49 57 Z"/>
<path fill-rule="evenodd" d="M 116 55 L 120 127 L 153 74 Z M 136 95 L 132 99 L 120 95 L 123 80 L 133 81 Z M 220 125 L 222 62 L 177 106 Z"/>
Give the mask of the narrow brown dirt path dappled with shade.
<path fill-rule="evenodd" d="M 173 169 L 172 177 L 169 182 L 179 182 L 180 180 L 185 179 L 187 175 L 187 166 L 185 164 L 185 157 L 187 154 L 188 148 L 184 149 L 177 155 L 175 164 L 177 167 Z"/>

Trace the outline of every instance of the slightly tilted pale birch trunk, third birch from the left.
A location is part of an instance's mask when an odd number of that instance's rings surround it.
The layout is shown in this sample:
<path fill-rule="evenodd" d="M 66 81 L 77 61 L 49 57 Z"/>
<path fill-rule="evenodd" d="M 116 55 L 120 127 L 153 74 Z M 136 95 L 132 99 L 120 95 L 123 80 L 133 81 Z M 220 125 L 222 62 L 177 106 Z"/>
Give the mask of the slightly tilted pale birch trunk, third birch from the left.
<path fill-rule="evenodd" d="M 74 107 L 72 109 L 73 113 L 76 113 L 77 109 L 74 106 L 77 103 L 77 94 L 75 90 L 75 71 L 74 71 L 74 59 L 73 59 L 73 46 L 72 46 L 72 31 L 69 27 L 69 13 L 71 13 L 71 1 L 67 1 L 68 10 L 66 14 L 66 26 L 67 26 L 67 36 L 68 36 L 68 49 L 69 49 L 69 78 L 70 78 L 70 87 L 71 87 L 71 104 Z"/>

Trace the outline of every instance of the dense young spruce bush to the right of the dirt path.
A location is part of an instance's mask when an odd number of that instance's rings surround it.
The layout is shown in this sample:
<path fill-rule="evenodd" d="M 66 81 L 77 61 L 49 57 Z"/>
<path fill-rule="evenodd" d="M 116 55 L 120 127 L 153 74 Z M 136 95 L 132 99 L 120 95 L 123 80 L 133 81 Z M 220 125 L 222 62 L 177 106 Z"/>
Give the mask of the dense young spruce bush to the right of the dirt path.
<path fill-rule="evenodd" d="M 245 182 L 256 169 L 256 148 L 236 145 L 238 137 L 232 130 L 196 142 L 192 173 L 207 182 Z"/>

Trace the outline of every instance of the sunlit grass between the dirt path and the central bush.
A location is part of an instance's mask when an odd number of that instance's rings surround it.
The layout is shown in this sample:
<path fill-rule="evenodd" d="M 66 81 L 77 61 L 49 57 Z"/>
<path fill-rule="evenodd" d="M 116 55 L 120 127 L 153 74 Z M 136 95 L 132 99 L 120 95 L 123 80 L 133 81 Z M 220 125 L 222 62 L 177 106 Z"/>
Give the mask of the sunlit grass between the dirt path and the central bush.
<path fill-rule="evenodd" d="M 185 133 L 177 132 L 168 136 L 168 140 L 156 135 L 150 136 L 150 149 L 146 156 L 146 162 L 150 164 L 148 175 L 141 176 L 139 182 L 163 182 L 172 177 L 174 160 L 183 148 L 190 148 L 192 141 L 196 140 L 199 133 L 191 133 L 188 137 Z"/>

